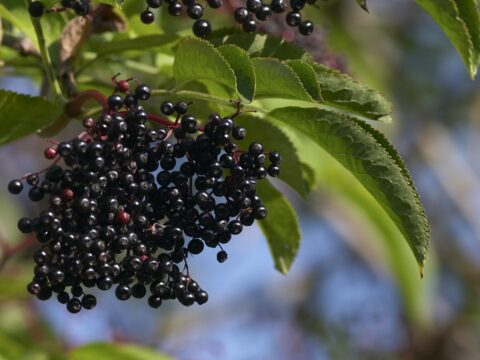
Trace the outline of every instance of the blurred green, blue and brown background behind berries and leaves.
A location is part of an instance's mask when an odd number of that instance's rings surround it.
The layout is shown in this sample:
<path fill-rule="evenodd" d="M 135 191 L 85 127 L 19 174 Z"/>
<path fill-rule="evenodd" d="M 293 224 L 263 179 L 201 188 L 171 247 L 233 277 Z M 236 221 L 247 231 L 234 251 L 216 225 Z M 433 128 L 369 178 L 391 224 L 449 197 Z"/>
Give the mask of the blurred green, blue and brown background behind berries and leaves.
<path fill-rule="evenodd" d="M 127 1 L 126 13 L 138 14 L 138 3 Z M 9 252 L 22 240 L 16 219 L 35 209 L 0 195 L 0 256 L 7 256 L 0 272 L 0 359 L 162 358 L 119 345 L 125 343 L 185 360 L 477 359 L 479 83 L 470 81 L 452 45 L 413 2 L 370 0 L 369 9 L 370 14 L 359 10 L 354 1 L 321 2 L 309 10 L 318 25 L 308 39 L 281 22 L 264 30 L 301 44 L 317 61 L 351 74 L 394 103 L 395 122 L 381 130 L 406 159 L 430 219 L 424 279 L 379 205 L 325 156 L 318 159 L 322 184 L 310 200 L 291 195 L 303 243 L 287 277 L 274 270 L 266 242 L 254 228 L 231 244 L 225 264 L 216 263 L 213 254 L 191 262 L 210 293 L 205 306 L 152 310 L 142 301 L 120 303 L 99 294 L 94 312 L 70 315 L 55 301 L 33 301 L 24 290 L 31 250 L 14 258 Z M 214 22 L 218 28 L 230 19 L 216 16 Z M 137 15 L 129 24 L 136 34 L 158 31 L 143 26 Z M 159 26 L 167 34 L 187 33 L 190 24 L 163 16 Z M 126 36 L 109 34 L 89 46 Z M 77 75 L 99 87 L 105 80 L 103 62 L 113 61 L 112 73 L 135 73 L 161 86 L 157 68 L 172 62 L 168 49 L 162 51 L 151 66 L 108 53 L 89 60 L 87 49 Z M 0 47 L 0 88 L 38 94 L 41 84 L 28 62 Z M 58 136 L 73 133 L 71 127 Z M 0 148 L 0 185 L 42 168 L 37 155 L 43 147 L 44 140 L 30 136 Z M 122 347 L 126 355 L 120 358 L 115 351 Z"/>

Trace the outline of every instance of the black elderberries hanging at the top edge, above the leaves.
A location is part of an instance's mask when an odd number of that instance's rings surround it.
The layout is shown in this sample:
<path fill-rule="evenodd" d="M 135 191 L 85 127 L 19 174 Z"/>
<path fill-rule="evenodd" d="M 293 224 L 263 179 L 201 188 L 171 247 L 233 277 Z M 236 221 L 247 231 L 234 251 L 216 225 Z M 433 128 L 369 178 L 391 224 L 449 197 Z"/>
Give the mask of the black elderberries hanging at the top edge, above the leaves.
<path fill-rule="evenodd" d="M 204 6 L 197 0 L 146 0 L 147 9 L 140 14 L 144 24 L 151 24 L 155 20 L 151 9 L 160 8 L 163 1 L 167 4 L 167 11 L 172 16 L 181 15 L 186 8 L 187 15 L 195 20 L 192 30 L 196 36 L 205 37 L 212 32 L 210 22 L 202 19 Z M 257 31 L 259 21 L 266 21 L 273 13 L 282 14 L 290 8 L 291 11 L 285 17 L 286 23 L 291 27 L 298 27 L 300 34 L 307 36 L 313 32 L 313 23 L 303 20 L 300 11 L 305 5 L 313 5 L 315 2 L 316 0 L 272 0 L 270 4 L 266 4 L 262 0 L 246 0 L 244 6 L 235 10 L 234 18 L 242 25 L 245 32 L 252 33 Z M 218 9 L 223 2 L 207 0 L 207 5 L 212 9 Z"/>

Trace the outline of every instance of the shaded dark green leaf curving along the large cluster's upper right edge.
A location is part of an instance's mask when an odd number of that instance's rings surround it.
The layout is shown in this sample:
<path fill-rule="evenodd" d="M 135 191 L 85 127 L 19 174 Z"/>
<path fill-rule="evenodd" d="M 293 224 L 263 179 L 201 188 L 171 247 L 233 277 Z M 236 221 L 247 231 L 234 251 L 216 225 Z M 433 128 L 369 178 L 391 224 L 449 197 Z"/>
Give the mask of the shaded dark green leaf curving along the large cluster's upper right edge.
<path fill-rule="evenodd" d="M 245 146 L 254 141 L 263 144 L 266 151 L 278 151 L 282 156 L 280 179 L 285 181 L 301 196 L 306 197 L 311 190 L 308 182 L 301 176 L 300 159 L 292 142 L 275 124 L 265 119 L 241 115 L 235 119 L 238 125 L 247 129 Z"/>

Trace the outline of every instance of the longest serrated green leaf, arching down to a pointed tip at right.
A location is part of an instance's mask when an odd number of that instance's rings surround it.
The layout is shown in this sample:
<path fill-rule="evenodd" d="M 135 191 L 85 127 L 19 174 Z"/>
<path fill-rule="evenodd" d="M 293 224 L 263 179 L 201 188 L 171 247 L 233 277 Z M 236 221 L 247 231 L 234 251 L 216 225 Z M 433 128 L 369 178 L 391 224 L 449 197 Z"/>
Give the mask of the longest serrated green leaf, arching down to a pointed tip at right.
<path fill-rule="evenodd" d="M 269 118 L 309 137 L 349 170 L 396 224 L 422 271 L 430 239 L 425 211 L 400 156 L 385 137 L 325 110 L 284 108 Z"/>

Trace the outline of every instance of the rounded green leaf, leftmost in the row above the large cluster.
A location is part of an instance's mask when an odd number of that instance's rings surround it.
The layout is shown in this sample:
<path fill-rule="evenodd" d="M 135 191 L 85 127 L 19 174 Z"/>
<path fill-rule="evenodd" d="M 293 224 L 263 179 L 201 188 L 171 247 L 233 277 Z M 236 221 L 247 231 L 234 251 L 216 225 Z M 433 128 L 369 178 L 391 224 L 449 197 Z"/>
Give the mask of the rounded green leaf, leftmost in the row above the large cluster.
<path fill-rule="evenodd" d="M 198 80 L 221 83 L 236 91 L 235 73 L 212 44 L 205 40 L 187 38 L 175 55 L 173 74 L 178 87 Z"/>

